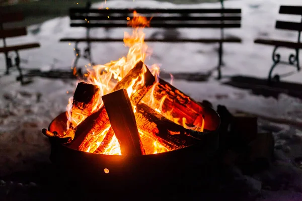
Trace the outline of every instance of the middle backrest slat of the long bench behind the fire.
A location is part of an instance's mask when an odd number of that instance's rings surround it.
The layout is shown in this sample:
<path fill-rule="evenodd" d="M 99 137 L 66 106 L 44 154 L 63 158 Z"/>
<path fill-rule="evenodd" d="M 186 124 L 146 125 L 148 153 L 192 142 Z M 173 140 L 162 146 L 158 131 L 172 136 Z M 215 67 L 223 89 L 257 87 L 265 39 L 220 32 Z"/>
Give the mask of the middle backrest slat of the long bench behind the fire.
<path fill-rule="evenodd" d="M 107 15 L 100 15 L 100 16 L 77 16 L 77 15 L 70 15 L 70 20 L 123 20 L 126 21 L 125 16 L 110 16 L 110 19 L 108 19 Z M 153 17 L 151 22 L 155 21 L 240 21 L 240 16 L 204 16 L 204 17 Z"/>

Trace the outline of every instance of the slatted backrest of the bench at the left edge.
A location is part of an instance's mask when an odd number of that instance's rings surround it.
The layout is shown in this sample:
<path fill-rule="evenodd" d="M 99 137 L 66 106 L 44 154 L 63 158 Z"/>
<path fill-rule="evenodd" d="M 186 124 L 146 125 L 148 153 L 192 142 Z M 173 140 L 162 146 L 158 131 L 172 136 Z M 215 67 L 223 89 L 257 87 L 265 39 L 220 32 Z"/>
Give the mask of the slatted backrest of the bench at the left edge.
<path fill-rule="evenodd" d="M 0 39 L 3 39 L 4 47 L 6 47 L 6 38 L 27 35 L 26 27 L 4 29 L 4 24 L 20 22 L 23 19 L 22 13 L 0 13 Z"/>

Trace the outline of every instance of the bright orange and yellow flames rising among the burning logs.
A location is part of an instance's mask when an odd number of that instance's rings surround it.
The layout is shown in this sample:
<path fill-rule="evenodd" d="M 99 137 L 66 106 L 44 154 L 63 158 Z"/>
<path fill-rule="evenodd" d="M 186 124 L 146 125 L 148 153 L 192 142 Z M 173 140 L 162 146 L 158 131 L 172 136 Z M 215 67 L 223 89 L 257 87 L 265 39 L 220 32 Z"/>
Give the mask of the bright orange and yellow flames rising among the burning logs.
<path fill-rule="evenodd" d="M 108 9 L 108 8 L 107 8 Z M 109 16 L 108 16 L 109 18 Z M 99 88 L 99 94 L 94 97 L 93 99 L 93 108 L 92 113 L 98 111 L 102 106 L 102 96 L 110 93 L 116 83 L 120 81 L 139 61 L 144 61 L 147 56 L 151 55 L 150 48 L 144 43 L 145 34 L 143 33 L 144 27 L 149 27 L 150 25 L 150 19 L 147 20 L 145 17 L 139 16 L 135 11 L 133 12 L 133 18 L 130 20 L 129 17 L 127 17 L 127 25 L 132 27 L 132 33 L 124 33 L 124 45 L 126 47 L 129 47 L 128 54 L 119 60 L 108 62 L 104 65 L 94 65 L 91 67 L 87 67 L 88 73 L 85 74 L 87 77 L 87 83 L 97 85 Z M 89 64 L 91 66 L 91 64 Z M 146 66 L 144 66 L 144 69 L 146 70 Z M 159 81 L 159 73 L 160 73 L 160 67 L 156 64 L 149 67 L 150 71 L 153 73 L 154 76 L 156 76 L 156 81 Z M 74 68 L 73 73 L 75 74 L 77 71 Z M 173 80 L 173 76 L 171 75 L 171 78 Z M 135 93 L 137 88 L 142 86 L 144 84 L 144 75 L 141 74 L 140 76 L 133 78 L 131 81 L 131 84 L 126 89 L 127 94 L 130 97 L 131 94 Z M 186 125 L 186 119 L 176 119 L 172 116 L 172 111 L 163 112 L 162 106 L 165 102 L 165 99 L 167 95 L 163 96 L 163 98 L 160 101 L 159 105 L 155 104 L 155 98 L 152 95 L 153 91 L 155 89 L 155 85 L 151 89 L 151 95 L 148 106 L 156 110 L 157 112 L 164 115 L 169 120 L 174 121 L 175 123 L 178 123 L 185 128 L 191 128 Z M 75 128 L 78 126 L 82 121 L 85 120 L 86 116 L 81 114 L 76 114 L 71 117 L 72 112 L 72 100 L 73 98 L 70 97 L 68 100 L 67 105 L 67 129 Z M 136 107 L 133 107 L 133 112 L 136 112 Z M 203 119 L 202 119 L 203 120 Z M 202 122 L 202 125 L 197 125 L 193 129 L 202 127 L 201 130 L 203 130 L 204 121 Z M 93 138 L 89 141 L 88 145 L 84 148 L 82 148 L 82 151 L 91 152 L 94 153 L 95 150 L 101 146 L 102 141 L 104 140 L 108 130 L 110 129 L 110 126 L 108 126 L 103 131 L 97 131 L 96 133 L 92 133 Z M 68 133 L 68 132 L 67 132 Z M 74 132 L 70 132 L 74 136 Z M 141 142 L 144 146 L 145 153 L 146 154 L 156 154 L 156 153 L 162 153 L 169 151 L 167 148 L 165 148 L 163 145 L 161 145 L 157 140 L 150 139 L 147 137 L 147 135 L 143 134 L 143 131 L 139 130 L 139 135 L 141 138 Z M 118 139 L 114 135 L 112 137 L 112 140 L 109 143 L 109 146 L 104 150 L 103 154 L 109 154 L 109 155 L 121 155 L 120 145 L 118 142 Z"/>

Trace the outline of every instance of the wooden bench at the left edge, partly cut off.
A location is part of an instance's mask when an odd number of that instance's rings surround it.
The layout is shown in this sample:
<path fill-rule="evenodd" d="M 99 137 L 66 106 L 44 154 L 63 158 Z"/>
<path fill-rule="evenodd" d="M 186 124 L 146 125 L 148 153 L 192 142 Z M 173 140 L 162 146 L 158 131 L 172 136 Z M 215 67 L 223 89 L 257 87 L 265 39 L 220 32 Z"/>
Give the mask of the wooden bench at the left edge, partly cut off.
<path fill-rule="evenodd" d="M 17 67 L 20 73 L 20 76 L 17 78 L 17 80 L 21 81 L 22 84 L 25 84 L 26 82 L 23 80 L 23 74 L 20 68 L 20 56 L 18 51 L 37 48 L 40 47 L 40 45 L 39 43 L 26 43 L 22 45 L 8 46 L 6 38 L 25 36 L 27 35 L 27 29 L 26 27 L 5 29 L 5 25 L 4 25 L 6 23 L 19 22 L 22 21 L 23 19 L 24 17 L 22 13 L 0 13 L 0 38 L 3 39 L 3 47 L 0 47 L 0 53 L 5 54 L 6 74 L 10 73 L 10 69 L 12 67 Z M 16 53 L 14 63 L 13 63 L 13 59 L 10 58 L 9 56 L 10 52 Z"/>

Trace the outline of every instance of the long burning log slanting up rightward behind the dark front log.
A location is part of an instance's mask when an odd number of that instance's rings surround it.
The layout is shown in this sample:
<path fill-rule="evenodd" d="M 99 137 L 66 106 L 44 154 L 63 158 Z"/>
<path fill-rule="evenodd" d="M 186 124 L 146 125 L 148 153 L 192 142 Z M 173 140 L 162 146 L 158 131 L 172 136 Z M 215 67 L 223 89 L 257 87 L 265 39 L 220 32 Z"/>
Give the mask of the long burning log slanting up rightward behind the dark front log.
<path fill-rule="evenodd" d="M 127 73 L 127 75 L 117 83 L 117 85 L 113 89 L 113 91 L 116 91 L 121 88 L 128 88 L 132 84 L 132 80 L 137 77 L 141 78 L 138 78 L 136 82 L 141 81 L 141 79 L 144 77 L 145 83 L 140 88 L 138 88 L 134 94 L 131 95 L 130 100 L 132 102 L 132 105 L 136 105 L 140 101 L 140 99 L 147 93 L 147 91 L 152 88 L 155 82 L 155 77 L 143 64 L 143 62 L 138 62 L 134 66 L 134 68 L 132 68 Z M 108 128 L 108 126 L 110 126 L 110 122 L 108 119 L 107 112 L 104 107 L 101 107 L 99 111 L 90 115 L 88 118 L 86 118 L 85 121 L 78 125 L 74 134 L 74 139 L 69 144 L 69 147 L 84 151 L 84 149 L 89 144 L 96 142 L 96 140 L 100 140 L 100 136 L 94 135 L 94 133 L 99 133 L 99 131 Z M 112 132 L 108 132 L 108 134 L 110 133 Z"/>

